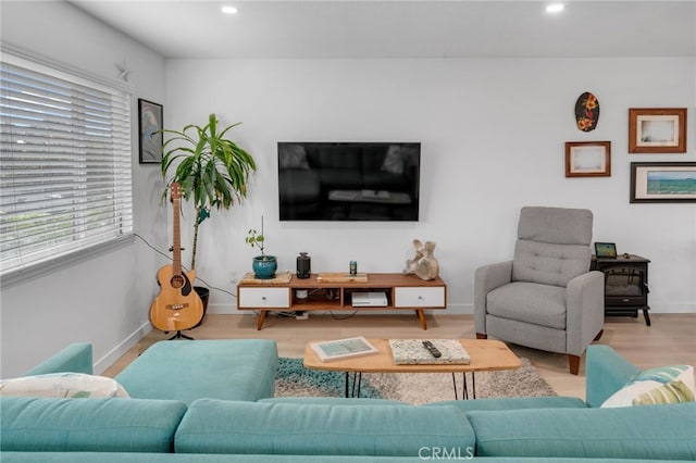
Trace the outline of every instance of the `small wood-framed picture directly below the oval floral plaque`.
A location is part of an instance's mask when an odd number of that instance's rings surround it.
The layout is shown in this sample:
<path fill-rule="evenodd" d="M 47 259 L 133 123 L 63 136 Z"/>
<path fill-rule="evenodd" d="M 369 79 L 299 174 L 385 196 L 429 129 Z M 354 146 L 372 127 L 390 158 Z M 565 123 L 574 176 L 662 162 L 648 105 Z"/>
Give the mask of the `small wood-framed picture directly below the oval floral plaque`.
<path fill-rule="evenodd" d="M 611 141 L 567 141 L 566 176 L 611 176 Z"/>

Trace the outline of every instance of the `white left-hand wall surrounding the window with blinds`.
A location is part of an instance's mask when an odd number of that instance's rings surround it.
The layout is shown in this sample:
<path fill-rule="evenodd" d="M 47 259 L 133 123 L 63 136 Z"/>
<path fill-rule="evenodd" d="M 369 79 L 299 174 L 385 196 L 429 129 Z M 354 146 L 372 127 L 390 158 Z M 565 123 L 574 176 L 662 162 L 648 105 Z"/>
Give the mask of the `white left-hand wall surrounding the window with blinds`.
<path fill-rule="evenodd" d="M 115 80 L 130 68 L 135 228 L 165 248 L 159 166 L 138 164 L 137 99 L 164 102 L 164 59 L 65 2 L 2 2 L 2 41 Z M 165 108 L 166 111 L 166 108 Z M 138 239 L 87 261 L 20 284 L 3 284 L 0 377 L 23 373 L 70 342 L 94 346 L 98 371 L 111 365 L 144 330 L 163 264 Z"/>

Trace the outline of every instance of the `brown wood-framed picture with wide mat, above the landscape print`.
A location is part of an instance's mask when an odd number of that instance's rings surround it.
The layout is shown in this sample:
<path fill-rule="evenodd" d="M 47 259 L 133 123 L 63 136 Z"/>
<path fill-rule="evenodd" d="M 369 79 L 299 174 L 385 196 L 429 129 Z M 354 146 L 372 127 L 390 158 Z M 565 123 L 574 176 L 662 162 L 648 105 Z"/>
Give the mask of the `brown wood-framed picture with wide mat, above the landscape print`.
<path fill-rule="evenodd" d="M 685 153 L 686 108 L 629 109 L 630 153 Z"/>

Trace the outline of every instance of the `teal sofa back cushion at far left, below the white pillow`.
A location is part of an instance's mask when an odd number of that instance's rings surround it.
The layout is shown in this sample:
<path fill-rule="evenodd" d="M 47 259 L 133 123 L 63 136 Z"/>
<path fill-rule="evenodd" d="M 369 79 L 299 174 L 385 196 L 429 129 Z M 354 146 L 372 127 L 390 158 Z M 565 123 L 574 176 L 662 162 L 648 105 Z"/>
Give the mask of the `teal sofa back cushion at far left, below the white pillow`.
<path fill-rule="evenodd" d="M 0 450 L 170 452 L 182 402 L 0 398 Z"/>

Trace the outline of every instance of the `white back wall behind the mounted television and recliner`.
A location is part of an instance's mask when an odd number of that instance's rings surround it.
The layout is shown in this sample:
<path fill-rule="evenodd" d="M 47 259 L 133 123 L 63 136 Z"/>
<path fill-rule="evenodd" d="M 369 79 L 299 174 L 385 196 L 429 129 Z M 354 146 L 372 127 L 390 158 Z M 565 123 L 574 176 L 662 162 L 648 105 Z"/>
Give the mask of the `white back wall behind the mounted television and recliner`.
<path fill-rule="evenodd" d="M 537 204 L 591 209 L 595 240 L 652 261 L 655 312 L 696 311 L 696 205 L 629 203 L 630 163 L 694 161 L 694 124 L 688 154 L 627 153 L 629 108 L 696 117 L 694 59 L 167 60 L 166 76 L 169 124 L 241 121 L 233 134 L 259 164 L 249 200 L 201 227 L 198 275 L 213 286 L 232 289 L 250 270 L 244 238 L 263 214 L 281 268 L 307 251 L 315 272 L 350 260 L 400 272 L 413 238 L 434 240 L 449 311 L 471 313 L 474 270 L 511 258 L 519 209 Z M 574 121 L 586 90 L 601 105 L 588 134 Z M 278 222 L 282 140 L 421 141 L 421 221 Z M 585 140 L 611 141 L 611 177 L 564 177 L 564 142 Z M 212 292 L 211 312 L 234 304 Z"/>

